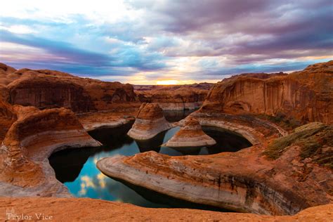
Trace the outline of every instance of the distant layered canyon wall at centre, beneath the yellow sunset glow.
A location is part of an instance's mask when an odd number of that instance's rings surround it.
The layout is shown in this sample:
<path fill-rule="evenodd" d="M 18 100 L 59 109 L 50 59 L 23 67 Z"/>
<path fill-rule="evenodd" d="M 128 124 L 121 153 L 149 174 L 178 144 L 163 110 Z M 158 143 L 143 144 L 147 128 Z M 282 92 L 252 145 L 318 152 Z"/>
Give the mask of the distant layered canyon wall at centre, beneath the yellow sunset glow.
<path fill-rule="evenodd" d="M 162 110 L 195 110 L 212 84 L 176 86 L 134 86 L 142 103 L 158 103 Z"/>

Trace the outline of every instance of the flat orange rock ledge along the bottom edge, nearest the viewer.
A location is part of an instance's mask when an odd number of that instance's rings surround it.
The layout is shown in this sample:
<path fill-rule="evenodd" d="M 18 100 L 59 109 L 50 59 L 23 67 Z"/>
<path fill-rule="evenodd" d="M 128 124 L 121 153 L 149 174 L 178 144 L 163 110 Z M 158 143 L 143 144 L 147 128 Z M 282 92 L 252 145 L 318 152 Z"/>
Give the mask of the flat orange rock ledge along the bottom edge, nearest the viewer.
<path fill-rule="evenodd" d="M 89 206 L 89 207 L 87 207 Z M 333 204 L 311 207 L 294 216 L 263 216 L 197 209 L 152 209 L 88 198 L 0 198 L 0 211 L 21 216 L 36 212 L 51 221 L 332 221 Z M 0 220 L 6 221 L 5 213 Z M 18 220 L 16 220 L 18 221 Z"/>

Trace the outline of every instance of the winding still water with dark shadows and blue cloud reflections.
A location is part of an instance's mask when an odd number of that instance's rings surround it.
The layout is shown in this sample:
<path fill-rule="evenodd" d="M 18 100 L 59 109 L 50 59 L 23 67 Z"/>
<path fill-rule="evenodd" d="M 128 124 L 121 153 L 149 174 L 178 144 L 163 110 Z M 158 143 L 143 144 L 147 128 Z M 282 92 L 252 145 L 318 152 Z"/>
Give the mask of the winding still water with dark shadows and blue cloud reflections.
<path fill-rule="evenodd" d="M 214 138 L 216 145 L 210 148 L 199 148 L 190 152 L 179 152 L 177 150 L 161 147 L 163 143 L 171 138 L 180 128 L 176 127 L 159 133 L 155 138 L 148 141 L 134 141 L 126 135 L 131 124 L 112 129 L 98 129 L 91 132 L 91 136 L 103 143 L 101 148 L 81 148 L 63 150 L 56 152 L 50 158 L 50 164 L 55 169 L 55 175 L 59 181 L 65 184 L 70 193 L 75 197 L 91 197 L 102 200 L 117 202 L 128 202 L 142 207 L 192 207 L 184 202 L 179 204 L 176 201 L 162 201 L 165 197 L 159 198 L 151 191 L 142 191 L 133 185 L 125 185 L 102 174 L 96 168 L 96 162 L 103 157 L 115 155 L 135 155 L 139 152 L 154 150 L 166 155 L 209 155 L 218 152 L 235 152 L 241 148 L 248 147 L 250 143 L 234 134 L 216 131 L 215 129 L 204 129 L 206 133 Z M 213 209 L 213 208 L 209 208 Z"/>

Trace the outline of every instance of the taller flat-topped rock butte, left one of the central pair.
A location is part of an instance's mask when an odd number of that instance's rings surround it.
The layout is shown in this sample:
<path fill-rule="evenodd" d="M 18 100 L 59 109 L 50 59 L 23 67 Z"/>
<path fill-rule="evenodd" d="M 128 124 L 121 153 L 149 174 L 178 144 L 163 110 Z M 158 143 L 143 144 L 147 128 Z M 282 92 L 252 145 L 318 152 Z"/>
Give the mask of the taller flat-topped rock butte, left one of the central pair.
<path fill-rule="evenodd" d="M 157 103 L 143 103 L 138 110 L 136 122 L 127 134 L 136 140 L 147 140 L 170 128 L 172 125 L 166 121 L 163 110 Z"/>

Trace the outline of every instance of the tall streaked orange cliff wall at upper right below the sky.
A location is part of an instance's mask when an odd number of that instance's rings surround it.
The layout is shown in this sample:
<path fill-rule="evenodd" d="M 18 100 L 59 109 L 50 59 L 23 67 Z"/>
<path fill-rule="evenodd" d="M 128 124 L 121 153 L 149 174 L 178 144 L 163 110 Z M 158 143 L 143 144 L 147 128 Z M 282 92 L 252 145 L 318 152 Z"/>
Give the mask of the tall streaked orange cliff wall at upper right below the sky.
<path fill-rule="evenodd" d="M 333 123 L 333 61 L 287 76 L 240 76 L 218 82 L 201 112 L 287 115 L 301 122 Z"/>

